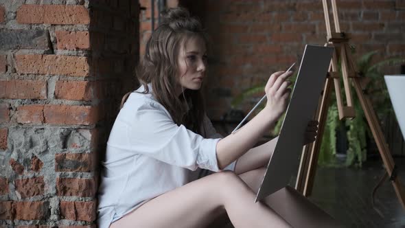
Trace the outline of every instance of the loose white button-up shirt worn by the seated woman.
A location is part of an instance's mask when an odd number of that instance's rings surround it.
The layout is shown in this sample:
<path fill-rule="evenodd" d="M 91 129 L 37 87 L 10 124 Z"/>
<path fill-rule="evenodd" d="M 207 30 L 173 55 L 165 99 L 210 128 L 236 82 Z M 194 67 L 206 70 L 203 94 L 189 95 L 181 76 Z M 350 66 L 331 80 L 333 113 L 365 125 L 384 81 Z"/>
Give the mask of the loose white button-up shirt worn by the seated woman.
<path fill-rule="evenodd" d="M 137 89 L 141 91 L 143 87 Z M 151 93 L 131 93 L 107 142 L 99 187 L 99 227 L 108 227 L 150 199 L 189 183 L 192 170 L 220 171 L 216 144 L 221 135 L 207 116 L 203 127 L 207 138 L 175 124 Z M 235 162 L 225 169 L 234 168 Z"/>

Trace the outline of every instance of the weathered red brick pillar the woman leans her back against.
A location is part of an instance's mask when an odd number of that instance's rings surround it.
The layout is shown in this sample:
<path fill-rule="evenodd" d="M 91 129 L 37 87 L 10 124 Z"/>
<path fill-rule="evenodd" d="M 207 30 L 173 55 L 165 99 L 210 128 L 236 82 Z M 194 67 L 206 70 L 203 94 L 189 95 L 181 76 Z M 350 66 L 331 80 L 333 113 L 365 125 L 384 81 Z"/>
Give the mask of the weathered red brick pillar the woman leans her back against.
<path fill-rule="evenodd" d="M 98 163 L 137 85 L 139 4 L 23 2 L 0 3 L 0 227 L 95 227 Z"/>

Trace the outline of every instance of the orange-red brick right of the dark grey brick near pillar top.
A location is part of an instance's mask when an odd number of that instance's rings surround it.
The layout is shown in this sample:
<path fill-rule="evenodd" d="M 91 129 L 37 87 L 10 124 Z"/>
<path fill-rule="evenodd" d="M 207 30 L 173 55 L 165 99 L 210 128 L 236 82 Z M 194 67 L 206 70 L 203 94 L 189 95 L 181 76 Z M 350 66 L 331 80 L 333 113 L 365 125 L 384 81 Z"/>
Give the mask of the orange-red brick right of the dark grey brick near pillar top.
<path fill-rule="evenodd" d="M 90 49 L 89 32 L 56 31 L 58 49 Z"/>

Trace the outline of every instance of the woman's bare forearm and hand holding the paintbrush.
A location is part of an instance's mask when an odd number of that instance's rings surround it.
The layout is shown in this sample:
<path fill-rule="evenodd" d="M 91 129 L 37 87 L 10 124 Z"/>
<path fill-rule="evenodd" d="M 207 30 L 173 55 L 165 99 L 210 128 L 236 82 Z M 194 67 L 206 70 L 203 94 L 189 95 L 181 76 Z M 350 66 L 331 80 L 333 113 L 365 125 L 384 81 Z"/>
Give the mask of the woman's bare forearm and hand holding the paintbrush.
<path fill-rule="evenodd" d="M 292 71 L 273 73 L 265 87 L 267 103 L 251 121 L 235 133 L 216 144 L 218 168 L 223 169 L 253 148 L 264 133 L 275 126 L 277 119 L 286 111 L 290 89 L 287 80 Z"/>

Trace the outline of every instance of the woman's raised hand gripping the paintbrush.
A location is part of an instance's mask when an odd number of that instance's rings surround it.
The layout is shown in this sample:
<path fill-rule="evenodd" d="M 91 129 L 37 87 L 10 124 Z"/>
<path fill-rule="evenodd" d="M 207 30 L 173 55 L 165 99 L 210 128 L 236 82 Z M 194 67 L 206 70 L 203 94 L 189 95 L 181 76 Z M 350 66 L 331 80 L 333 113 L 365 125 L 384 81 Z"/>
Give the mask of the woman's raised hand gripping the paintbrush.
<path fill-rule="evenodd" d="M 292 71 L 278 71 L 273 73 L 267 81 L 266 91 L 267 104 L 265 109 L 274 119 L 278 119 L 287 109 L 288 97 L 291 89 L 288 88 L 291 84 L 287 78 L 292 75 Z"/>

